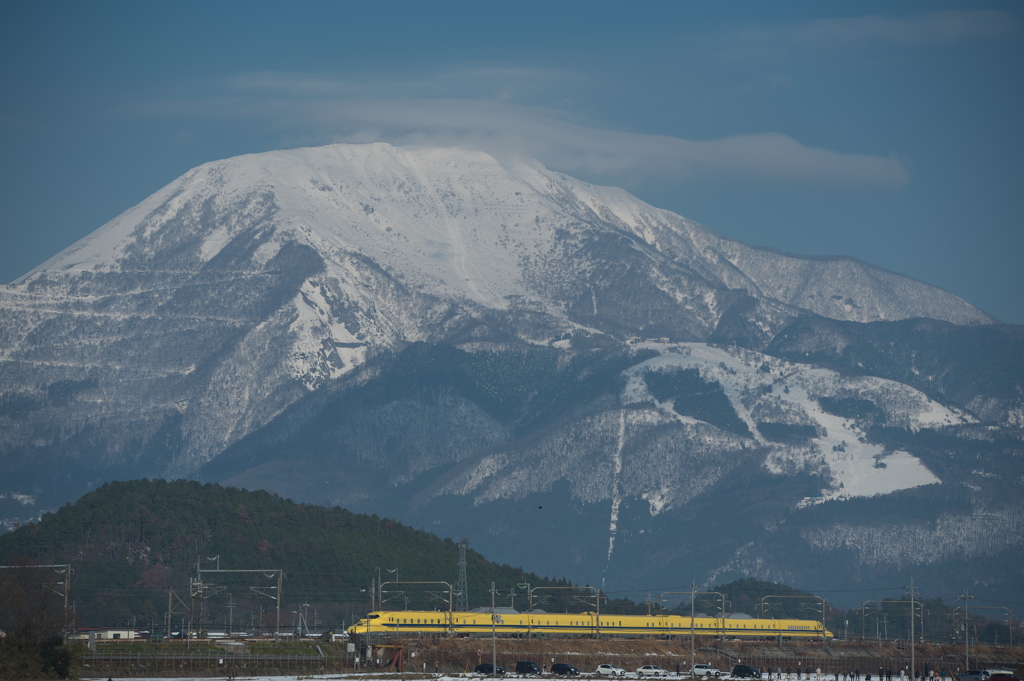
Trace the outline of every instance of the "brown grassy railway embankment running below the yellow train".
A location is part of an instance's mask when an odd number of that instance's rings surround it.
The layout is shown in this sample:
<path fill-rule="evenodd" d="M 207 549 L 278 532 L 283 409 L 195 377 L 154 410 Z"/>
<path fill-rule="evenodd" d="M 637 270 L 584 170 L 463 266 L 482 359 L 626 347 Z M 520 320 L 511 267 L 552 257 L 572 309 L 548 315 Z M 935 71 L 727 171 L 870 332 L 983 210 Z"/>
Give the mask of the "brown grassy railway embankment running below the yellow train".
<path fill-rule="evenodd" d="M 354 648 L 355 646 L 351 646 Z M 834 681 L 837 674 L 860 673 L 861 681 L 880 674 L 898 678 L 909 675 L 910 646 L 903 641 L 799 641 L 774 642 L 698 640 L 693 662 L 708 664 L 727 674 L 734 665 L 779 671 L 786 681 Z M 918 643 L 913 664 L 920 675 L 925 667 L 946 677 L 964 671 L 963 646 Z M 1024 670 L 1024 647 L 977 646 L 971 648 L 971 668 L 1001 667 Z M 497 657 L 509 672 L 520 661 L 545 669 L 555 663 L 578 667 L 592 676 L 601 664 L 612 664 L 632 673 L 643 665 L 657 665 L 685 676 L 690 666 L 690 643 L 682 639 L 444 639 L 400 638 L 366 651 L 344 642 L 133 642 L 97 645 L 83 659 L 86 677 L 234 677 L 265 675 L 315 675 L 334 673 L 400 673 L 403 678 L 471 674 L 477 664 Z M 632 674 L 631 674 L 632 676 Z"/>

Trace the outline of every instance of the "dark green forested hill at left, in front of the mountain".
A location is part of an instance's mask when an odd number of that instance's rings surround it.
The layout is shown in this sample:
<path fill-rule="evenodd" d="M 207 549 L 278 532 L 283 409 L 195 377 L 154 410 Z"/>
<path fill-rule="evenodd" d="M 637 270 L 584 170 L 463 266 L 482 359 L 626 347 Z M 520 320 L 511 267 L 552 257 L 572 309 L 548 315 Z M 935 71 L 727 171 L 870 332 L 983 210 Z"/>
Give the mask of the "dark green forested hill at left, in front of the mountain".
<path fill-rule="evenodd" d="M 261 622 L 264 630 L 272 628 L 276 577 L 263 570 L 282 569 L 283 627 L 297 623 L 301 612 L 309 629 L 324 630 L 366 612 L 378 576 L 455 584 L 459 546 L 376 515 L 186 480 L 109 482 L 36 524 L 0 536 L 3 564 L 72 564 L 70 605 L 80 626 L 163 632 L 170 597 L 177 630 L 188 616 L 197 565 L 213 569 L 218 556 L 223 570 L 254 571 L 203 574 L 206 628 L 226 629 L 229 620 L 234 630 L 255 630 Z M 518 584 L 567 584 L 490 563 L 472 550 L 467 573 L 470 607 L 489 604 L 492 582 L 504 594 L 503 605 Z M 385 607 L 447 607 L 442 585 L 384 590 Z"/>

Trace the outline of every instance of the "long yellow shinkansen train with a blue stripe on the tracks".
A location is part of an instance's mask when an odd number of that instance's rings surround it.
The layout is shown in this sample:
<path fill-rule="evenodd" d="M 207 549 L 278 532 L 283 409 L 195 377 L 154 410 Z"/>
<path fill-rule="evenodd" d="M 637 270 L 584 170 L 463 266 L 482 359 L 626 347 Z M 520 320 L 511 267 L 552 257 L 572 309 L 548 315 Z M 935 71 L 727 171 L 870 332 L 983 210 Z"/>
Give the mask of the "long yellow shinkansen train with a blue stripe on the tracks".
<path fill-rule="evenodd" d="M 428 634 L 512 637 L 720 636 L 723 638 L 833 638 L 814 620 L 686 618 L 681 615 L 601 614 L 595 612 L 449 612 L 379 610 L 348 628 L 349 636 L 372 641 Z"/>

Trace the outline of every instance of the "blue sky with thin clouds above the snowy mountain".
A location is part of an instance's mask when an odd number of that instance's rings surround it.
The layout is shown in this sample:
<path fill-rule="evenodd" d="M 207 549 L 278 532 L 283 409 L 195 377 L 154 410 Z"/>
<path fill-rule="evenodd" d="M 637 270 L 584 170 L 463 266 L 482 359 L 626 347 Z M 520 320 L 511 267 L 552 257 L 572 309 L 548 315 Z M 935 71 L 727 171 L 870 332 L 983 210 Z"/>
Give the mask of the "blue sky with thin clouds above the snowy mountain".
<path fill-rule="evenodd" d="M 1024 324 L 1016 2 L 0 6 L 0 281 L 188 169 L 474 144 Z"/>

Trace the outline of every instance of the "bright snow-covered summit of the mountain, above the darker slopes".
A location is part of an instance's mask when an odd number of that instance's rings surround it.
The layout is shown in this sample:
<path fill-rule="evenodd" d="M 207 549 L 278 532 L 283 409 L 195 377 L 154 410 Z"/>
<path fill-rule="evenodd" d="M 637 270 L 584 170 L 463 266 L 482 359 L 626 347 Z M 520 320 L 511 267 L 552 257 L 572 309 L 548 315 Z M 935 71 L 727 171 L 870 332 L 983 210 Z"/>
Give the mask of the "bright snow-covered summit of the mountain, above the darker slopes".
<path fill-rule="evenodd" d="M 334 269 L 357 254 L 420 291 L 495 309 L 505 309 L 510 297 L 550 307 L 545 280 L 551 272 L 537 272 L 538 266 L 560 268 L 553 256 L 581 255 L 581 242 L 625 238 L 681 270 L 663 274 L 665 294 L 695 298 L 701 307 L 714 308 L 722 294 L 742 291 L 839 320 L 992 321 L 908 278 L 851 259 L 803 259 L 746 247 L 621 189 L 580 182 L 536 161 L 384 143 L 206 164 L 15 284 L 41 271 L 106 269 L 139 256 L 155 263 L 171 249 L 175 260 L 190 256 L 181 264 L 203 266 L 257 226 L 272 233 L 253 253 L 255 266 L 295 240 Z M 680 273 L 688 280 L 683 286 Z M 721 310 L 709 312 L 715 317 Z"/>

